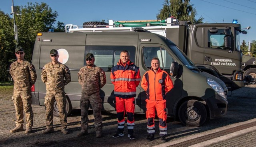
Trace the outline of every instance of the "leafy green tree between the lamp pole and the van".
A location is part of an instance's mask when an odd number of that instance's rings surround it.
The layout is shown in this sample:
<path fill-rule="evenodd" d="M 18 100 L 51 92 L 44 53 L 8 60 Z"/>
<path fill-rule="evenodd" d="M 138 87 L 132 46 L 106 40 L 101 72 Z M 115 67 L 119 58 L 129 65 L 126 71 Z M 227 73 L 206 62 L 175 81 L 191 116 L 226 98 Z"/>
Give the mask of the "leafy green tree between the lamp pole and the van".
<path fill-rule="evenodd" d="M 52 8 L 44 2 L 41 4 L 30 2 L 28 6 L 18 6 L 17 13 L 21 14 L 16 16 L 19 46 L 25 49 L 25 59 L 31 61 L 36 34 L 54 28 L 58 13 L 53 12 Z"/>

